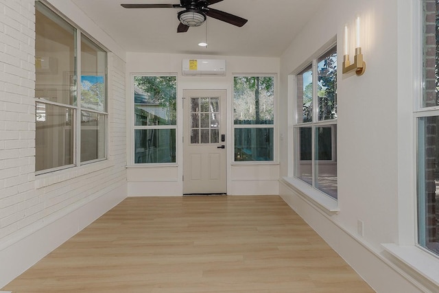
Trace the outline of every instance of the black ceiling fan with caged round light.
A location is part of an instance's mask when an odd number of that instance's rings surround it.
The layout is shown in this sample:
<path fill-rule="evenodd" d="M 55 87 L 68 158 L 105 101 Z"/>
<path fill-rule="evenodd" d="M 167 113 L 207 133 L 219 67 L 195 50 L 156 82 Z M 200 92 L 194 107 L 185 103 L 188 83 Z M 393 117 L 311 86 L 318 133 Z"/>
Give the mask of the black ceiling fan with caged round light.
<path fill-rule="evenodd" d="M 207 16 L 236 25 L 237 27 L 247 23 L 247 19 L 208 7 L 221 1 L 223 0 L 180 0 L 180 4 L 121 4 L 121 6 L 123 8 L 185 8 L 185 10 L 181 10 L 177 14 L 180 21 L 177 32 L 187 32 L 189 27 L 202 25 L 206 21 Z"/>

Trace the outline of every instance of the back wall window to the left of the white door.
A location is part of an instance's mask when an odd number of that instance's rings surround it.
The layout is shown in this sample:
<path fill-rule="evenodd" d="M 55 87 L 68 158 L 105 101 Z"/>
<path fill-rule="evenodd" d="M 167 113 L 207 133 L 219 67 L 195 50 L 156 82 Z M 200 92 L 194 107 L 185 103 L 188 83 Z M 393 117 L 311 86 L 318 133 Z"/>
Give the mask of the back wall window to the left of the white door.
<path fill-rule="evenodd" d="M 136 75 L 134 163 L 176 163 L 176 76 Z"/>

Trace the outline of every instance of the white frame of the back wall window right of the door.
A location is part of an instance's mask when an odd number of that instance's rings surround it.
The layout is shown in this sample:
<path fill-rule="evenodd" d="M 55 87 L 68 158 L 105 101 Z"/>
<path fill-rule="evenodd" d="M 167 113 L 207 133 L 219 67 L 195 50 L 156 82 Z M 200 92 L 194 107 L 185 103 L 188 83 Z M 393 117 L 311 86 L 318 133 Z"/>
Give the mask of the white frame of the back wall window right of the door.
<path fill-rule="evenodd" d="M 230 115 L 231 125 L 232 125 L 232 148 L 231 152 L 232 161 L 231 165 L 272 165 L 277 162 L 277 74 L 276 73 L 234 73 L 233 74 L 233 84 L 235 84 L 235 78 L 256 78 L 256 77 L 269 77 L 273 78 L 273 124 L 235 124 L 235 117 L 233 115 L 234 110 L 234 99 L 235 99 L 235 86 L 232 85 L 232 103 Z M 262 128 L 272 128 L 273 129 L 273 159 L 270 161 L 236 161 L 235 160 L 235 129 L 239 128 L 252 128 L 252 129 L 262 129 Z"/>

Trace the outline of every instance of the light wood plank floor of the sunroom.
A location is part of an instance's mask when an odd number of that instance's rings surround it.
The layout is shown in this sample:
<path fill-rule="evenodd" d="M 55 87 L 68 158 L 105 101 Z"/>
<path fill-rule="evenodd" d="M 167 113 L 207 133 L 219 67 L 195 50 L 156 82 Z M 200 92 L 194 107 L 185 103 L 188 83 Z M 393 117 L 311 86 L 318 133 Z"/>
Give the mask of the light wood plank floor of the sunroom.
<path fill-rule="evenodd" d="M 373 292 L 278 196 L 127 198 L 2 290 Z"/>

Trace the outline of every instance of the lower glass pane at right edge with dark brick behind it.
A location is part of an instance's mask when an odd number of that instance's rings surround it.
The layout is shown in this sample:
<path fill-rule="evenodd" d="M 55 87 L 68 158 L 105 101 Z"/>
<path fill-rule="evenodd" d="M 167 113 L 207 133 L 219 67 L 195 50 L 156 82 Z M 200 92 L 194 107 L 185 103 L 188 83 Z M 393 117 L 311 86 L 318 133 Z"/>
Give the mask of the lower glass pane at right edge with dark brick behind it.
<path fill-rule="evenodd" d="M 439 254 L 439 117 L 418 119 L 418 243 Z"/>

